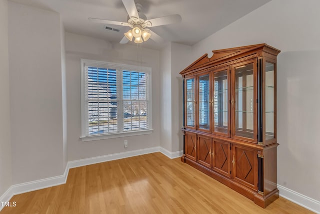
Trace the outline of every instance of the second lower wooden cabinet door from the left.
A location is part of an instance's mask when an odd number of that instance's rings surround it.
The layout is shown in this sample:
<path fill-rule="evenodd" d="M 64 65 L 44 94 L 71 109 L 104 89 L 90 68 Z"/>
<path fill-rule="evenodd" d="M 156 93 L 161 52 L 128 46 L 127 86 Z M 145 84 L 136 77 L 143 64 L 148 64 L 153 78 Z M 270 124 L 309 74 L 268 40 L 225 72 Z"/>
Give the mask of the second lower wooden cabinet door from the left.
<path fill-rule="evenodd" d="M 209 168 L 211 166 L 211 145 L 212 138 L 198 136 L 197 162 Z"/>

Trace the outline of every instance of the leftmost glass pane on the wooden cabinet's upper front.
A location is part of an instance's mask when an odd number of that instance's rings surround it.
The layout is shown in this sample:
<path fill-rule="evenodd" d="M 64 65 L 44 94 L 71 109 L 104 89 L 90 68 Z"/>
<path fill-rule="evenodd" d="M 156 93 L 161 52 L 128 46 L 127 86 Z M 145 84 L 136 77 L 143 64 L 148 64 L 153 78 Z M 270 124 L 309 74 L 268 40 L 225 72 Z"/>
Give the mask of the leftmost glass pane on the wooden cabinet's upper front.
<path fill-rule="evenodd" d="M 195 107 L 195 98 L 194 98 L 194 78 L 192 79 L 187 79 L 185 81 L 185 86 L 186 86 L 186 108 L 185 108 L 185 113 L 186 113 L 186 125 L 194 127 L 194 107 Z"/>

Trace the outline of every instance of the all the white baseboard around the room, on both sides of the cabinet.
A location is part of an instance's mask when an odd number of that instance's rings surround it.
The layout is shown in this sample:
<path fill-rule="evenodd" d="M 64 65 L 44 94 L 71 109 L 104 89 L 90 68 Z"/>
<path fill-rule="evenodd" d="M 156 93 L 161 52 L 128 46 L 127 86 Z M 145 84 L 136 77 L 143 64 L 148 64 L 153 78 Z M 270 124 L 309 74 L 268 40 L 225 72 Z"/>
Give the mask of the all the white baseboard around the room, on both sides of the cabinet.
<path fill-rule="evenodd" d="M 127 152 L 69 161 L 65 167 L 63 175 L 12 185 L 1 195 L 0 201 L 9 201 L 10 198 L 15 194 L 20 194 L 24 192 L 29 192 L 29 191 L 34 191 L 38 189 L 43 189 L 51 186 L 64 184 L 66 182 L 66 178 L 70 168 L 75 168 L 79 166 L 85 166 L 85 165 L 90 165 L 90 164 L 100 163 L 100 162 L 105 162 L 110 160 L 122 159 L 126 157 L 142 155 L 142 154 L 149 154 L 154 152 L 161 152 L 162 154 L 164 154 L 165 156 L 171 159 L 180 157 L 183 154 L 183 151 L 170 152 L 160 146 L 157 146 L 157 147 L 151 147 L 146 149 L 139 149 L 134 151 L 127 151 Z M 296 204 L 299 204 L 300 206 L 303 206 L 313 212 L 320 213 L 320 201 L 314 200 L 310 197 L 302 195 L 298 192 L 295 192 L 281 185 L 277 185 L 277 187 L 280 191 L 281 197 L 284 197 Z M 3 207 L 0 204 L 0 210 L 2 208 Z"/>

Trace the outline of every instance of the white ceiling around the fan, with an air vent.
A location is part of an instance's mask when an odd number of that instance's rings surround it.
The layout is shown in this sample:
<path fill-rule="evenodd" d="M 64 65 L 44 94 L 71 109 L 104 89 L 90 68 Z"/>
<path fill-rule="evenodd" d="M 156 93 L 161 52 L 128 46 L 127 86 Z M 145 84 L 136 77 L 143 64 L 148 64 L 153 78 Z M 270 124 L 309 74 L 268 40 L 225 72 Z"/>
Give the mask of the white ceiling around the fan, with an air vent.
<path fill-rule="evenodd" d="M 10 0 L 54 11 L 61 15 L 66 32 L 119 42 L 129 27 L 112 26 L 119 32 L 105 30 L 103 24 L 87 18 L 126 22 L 121 0 Z M 270 0 L 135 0 L 142 5 L 147 19 L 179 14 L 182 22 L 151 28 L 166 42 L 193 45 L 245 16 Z M 257 17 L 258 19 L 258 17 Z M 134 44 L 129 42 L 128 44 Z M 163 44 L 148 40 L 142 47 L 159 49 Z"/>

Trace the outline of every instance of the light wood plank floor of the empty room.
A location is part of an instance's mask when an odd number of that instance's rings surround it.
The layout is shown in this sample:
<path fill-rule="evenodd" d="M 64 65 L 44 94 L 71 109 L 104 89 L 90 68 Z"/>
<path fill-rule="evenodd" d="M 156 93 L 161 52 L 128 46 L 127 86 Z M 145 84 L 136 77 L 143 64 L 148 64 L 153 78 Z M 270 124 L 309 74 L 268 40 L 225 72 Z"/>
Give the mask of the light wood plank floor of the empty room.
<path fill-rule="evenodd" d="M 284 198 L 265 209 L 180 158 L 157 152 L 70 169 L 63 185 L 15 195 L 5 213 L 312 213 Z"/>

